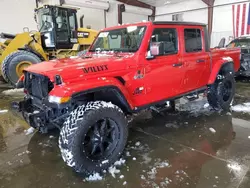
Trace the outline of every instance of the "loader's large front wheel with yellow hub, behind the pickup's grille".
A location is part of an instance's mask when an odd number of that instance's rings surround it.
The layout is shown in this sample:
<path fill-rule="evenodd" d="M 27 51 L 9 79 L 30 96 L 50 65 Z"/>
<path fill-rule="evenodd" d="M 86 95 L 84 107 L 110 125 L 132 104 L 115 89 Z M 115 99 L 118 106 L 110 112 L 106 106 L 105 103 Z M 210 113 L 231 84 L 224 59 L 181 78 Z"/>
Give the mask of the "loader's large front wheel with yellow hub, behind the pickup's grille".
<path fill-rule="evenodd" d="M 24 68 L 40 62 L 41 59 L 31 52 L 24 50 L 13 52 L 2 63 L 3 78 L 15 86 Z"/>

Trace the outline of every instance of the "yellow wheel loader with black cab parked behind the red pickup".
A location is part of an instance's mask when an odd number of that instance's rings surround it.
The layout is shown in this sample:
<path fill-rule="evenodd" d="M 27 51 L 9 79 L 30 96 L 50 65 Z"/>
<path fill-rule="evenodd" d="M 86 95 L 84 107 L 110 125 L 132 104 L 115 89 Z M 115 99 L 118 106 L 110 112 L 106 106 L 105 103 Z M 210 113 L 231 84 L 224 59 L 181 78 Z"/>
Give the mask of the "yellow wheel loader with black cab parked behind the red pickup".
<path fill-rule="evenodd" d="M 83 17 L 78 28 L 76 13 L 74 8 L 45 5 L 35 9 L 39 31 L 2 33 L 0 38 L 5 42 L 0 43 L 0 76 L 15 85 L 29 65 L 83 54 L 98 32 L 83 28 Z"/>

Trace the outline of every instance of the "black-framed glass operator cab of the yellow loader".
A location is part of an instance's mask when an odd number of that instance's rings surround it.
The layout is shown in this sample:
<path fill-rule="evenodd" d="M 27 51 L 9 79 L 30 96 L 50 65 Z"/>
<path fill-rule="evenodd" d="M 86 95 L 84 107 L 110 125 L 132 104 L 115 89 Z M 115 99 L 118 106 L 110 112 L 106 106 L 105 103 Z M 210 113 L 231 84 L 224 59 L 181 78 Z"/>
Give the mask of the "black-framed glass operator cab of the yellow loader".
<path fill-rule="evenodd" d="M 46 5 L 36 9 L 44 49 L 71 49 L 77 43 L 76 9 Z"/>

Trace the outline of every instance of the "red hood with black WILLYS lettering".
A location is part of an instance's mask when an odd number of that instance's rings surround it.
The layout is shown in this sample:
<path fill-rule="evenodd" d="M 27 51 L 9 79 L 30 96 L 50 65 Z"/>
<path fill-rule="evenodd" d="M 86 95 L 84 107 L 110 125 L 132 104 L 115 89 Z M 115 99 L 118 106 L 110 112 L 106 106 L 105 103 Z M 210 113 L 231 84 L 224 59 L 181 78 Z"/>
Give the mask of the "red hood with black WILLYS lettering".
<path fill-rule="evenodd" d="M 26 71 L 46 75 L 54 80 L 60 75 L 64 81 L 79 77 L 96 77 L 110 72 L 126 70 L 126 62 L 132 60 L 134 54 L 123 56 L 98 55 L 90 58 L 72 57 L 42 62 L 29 66 Z M 134 60 L 134 58 L 133 58 Z"/>

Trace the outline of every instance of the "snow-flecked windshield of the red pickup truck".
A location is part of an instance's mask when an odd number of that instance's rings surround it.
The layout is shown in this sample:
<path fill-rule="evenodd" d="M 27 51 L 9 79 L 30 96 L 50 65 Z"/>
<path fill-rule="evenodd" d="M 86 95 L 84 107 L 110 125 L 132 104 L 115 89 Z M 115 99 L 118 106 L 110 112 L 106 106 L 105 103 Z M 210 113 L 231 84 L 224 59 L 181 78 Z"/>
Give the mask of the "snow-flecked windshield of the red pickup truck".
<path fill-rule="evenodd" d="M 141 45 L 145 31 L 145 26 L 129 26 L 122 29 L 100 32 L 90 52 L 136 52 Z"/>

